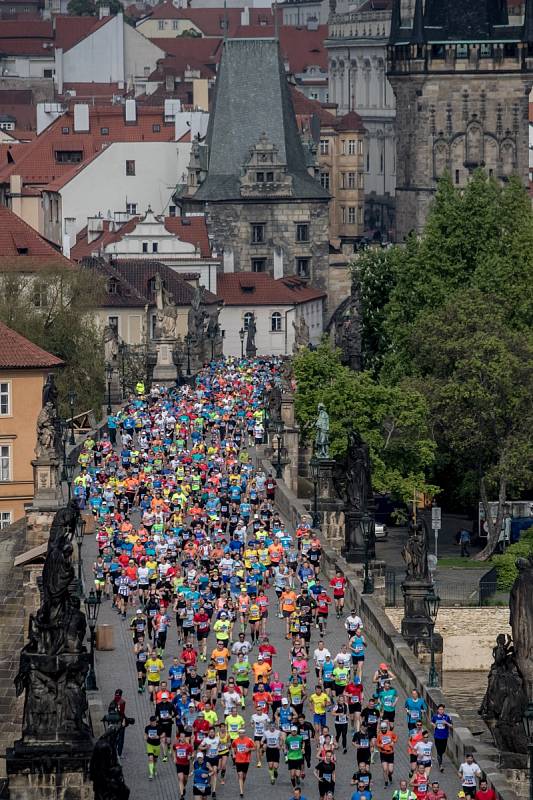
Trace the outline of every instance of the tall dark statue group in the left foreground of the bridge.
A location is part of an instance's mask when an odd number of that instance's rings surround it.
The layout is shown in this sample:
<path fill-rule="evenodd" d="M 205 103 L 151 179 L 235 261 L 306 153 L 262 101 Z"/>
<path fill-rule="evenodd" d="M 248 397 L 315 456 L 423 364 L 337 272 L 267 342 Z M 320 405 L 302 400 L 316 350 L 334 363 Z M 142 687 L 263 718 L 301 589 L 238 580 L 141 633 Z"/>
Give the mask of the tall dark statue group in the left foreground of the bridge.
<path fill-rule="evenodd" d="M 39 744 L 91 740 L 85 679 L 85 615 L 75 594 L 72 536 L 75 501 L 58 511 L 50 528 L 42 574 L 41 606 L 29 620 L 29 640 L 20 653 L 17 696 L 25 694 L 22 737 Z"/>

